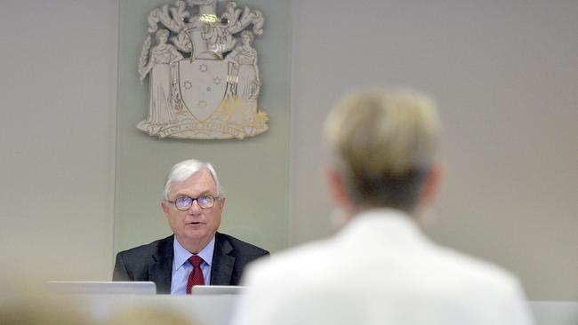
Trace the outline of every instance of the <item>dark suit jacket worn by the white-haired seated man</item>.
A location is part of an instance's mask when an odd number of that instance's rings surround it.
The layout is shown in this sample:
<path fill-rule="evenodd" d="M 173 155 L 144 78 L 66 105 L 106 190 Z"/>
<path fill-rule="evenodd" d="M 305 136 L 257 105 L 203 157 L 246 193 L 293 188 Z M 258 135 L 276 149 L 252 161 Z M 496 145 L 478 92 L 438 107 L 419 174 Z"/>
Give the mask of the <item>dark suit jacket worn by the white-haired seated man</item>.
<path fill-rule="evenodd" d="M 157 293 L 171 293 L 173 274 L 173 238 L 168 236 L 148 245 L 116 254 L 113 281 L 153 281 Z M 250 243 L 228 234 L 215 234 L 211 284 L 238 285 L 245 266 L 257 258 L 269 255 Z"/>

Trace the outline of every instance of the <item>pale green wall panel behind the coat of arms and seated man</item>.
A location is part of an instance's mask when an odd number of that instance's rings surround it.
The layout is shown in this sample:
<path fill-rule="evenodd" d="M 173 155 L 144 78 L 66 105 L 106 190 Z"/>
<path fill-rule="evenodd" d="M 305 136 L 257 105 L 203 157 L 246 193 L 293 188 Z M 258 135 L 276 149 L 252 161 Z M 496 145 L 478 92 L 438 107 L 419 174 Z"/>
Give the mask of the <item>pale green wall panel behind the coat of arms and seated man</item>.
<path fill-rule="evenodd" d="M 255 38 L 261 72 L 260 107 L 269 131 L 244 140 L 157 139 L 135 125 L 148 112 L 148 83 L 137 59 L 149 12 L 165 0 L 120 1 L 116 142 L 115 254 L 171 234 L 160 198 L 166 172 L 184 159 L 214 164 L 228 196 L 221 231 L 267 250 L 287 245 L 290 2 L 237 2 L 260 10 L 264 33 Z M 221 12 L 221 9 L 219 10 Z"/>

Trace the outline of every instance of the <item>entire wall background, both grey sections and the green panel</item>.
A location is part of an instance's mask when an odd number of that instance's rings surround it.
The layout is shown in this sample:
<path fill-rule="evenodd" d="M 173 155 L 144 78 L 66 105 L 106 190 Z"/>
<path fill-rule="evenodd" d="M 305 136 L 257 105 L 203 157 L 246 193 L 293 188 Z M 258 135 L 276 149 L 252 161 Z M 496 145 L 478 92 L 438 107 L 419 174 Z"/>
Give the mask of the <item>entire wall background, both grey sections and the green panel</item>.
<path fill-rule="evenodd" d="M 381 83 L 441 109 L 432 238 L 509 268 L 532 299 L 578 300 L 578 3 L 239 2 L 267 20 L 256 46 L 270 130 L 217 142 L 134 128 L 148 99 L 136 58 L 159 4 L 4 4 L 1 279 L 108 279 L 117 250 L 169 234 L 160 189 L 190 156 L 220 171 L 223 231 L 272 251 L 332 234 L 320 125 L 343 91 Z"/>

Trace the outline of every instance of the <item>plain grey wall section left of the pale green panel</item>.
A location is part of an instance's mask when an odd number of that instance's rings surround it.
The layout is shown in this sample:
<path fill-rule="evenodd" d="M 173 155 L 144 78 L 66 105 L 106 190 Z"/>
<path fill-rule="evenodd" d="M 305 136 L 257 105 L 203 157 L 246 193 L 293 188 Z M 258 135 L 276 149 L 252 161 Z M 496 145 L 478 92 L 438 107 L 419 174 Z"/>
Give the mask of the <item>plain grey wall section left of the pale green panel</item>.
<path fill-rule="evenodd" d="M 115 0 L 3 2 L 0 272 L 110 276 L 116 12 Z"/>

